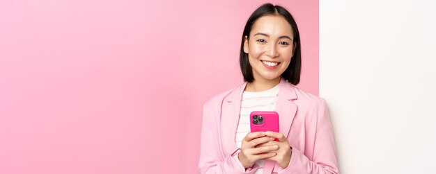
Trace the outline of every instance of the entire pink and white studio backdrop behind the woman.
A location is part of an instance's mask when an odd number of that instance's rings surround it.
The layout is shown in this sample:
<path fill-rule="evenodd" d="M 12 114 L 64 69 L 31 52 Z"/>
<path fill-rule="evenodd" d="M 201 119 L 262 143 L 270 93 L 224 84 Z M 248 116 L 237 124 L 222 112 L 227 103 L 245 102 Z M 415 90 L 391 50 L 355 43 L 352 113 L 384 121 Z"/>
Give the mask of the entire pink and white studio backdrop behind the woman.
<path fill-rule="evenodd" d="M 203 103 L 243 82 L 263 3 L 302 38 L 341 173 L 434 173 L 433 1 L 1 1 L 0 173 L 198 173 Z"/>

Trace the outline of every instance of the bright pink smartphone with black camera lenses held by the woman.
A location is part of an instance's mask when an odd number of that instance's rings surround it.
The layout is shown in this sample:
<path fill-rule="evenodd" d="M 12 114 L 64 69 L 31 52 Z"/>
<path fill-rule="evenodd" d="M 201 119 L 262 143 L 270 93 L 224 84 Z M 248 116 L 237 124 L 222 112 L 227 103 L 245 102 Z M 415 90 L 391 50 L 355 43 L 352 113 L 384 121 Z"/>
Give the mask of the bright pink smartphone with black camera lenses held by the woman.
<path fill-rule="evenodd" d="M 254 111 L 250 114 L 251 132 L 279 132 L 279 114 L 275 111 Z M 275 139 L 279 141 L 278 139 Z"/>

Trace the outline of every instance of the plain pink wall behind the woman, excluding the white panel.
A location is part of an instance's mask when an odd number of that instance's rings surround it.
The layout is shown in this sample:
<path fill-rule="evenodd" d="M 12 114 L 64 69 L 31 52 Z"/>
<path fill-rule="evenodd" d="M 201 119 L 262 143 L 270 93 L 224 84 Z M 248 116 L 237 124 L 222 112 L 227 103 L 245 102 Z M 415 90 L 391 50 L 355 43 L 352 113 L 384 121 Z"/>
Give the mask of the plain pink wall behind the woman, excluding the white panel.
<path fill-rule="evenodd" d="M 271 1 L 318 94 L 318 1 Z M 242 83 L 265 1 L 0 1 L 0 173 L 196 173 L 203 103 Z"/>

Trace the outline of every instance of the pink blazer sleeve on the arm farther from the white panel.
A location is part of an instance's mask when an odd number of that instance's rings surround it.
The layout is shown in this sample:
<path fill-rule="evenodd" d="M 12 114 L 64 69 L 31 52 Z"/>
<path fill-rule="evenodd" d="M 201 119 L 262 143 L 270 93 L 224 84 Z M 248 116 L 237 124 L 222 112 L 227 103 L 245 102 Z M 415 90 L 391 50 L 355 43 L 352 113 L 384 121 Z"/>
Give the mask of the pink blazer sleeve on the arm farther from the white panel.
<path fill-rule="evenodd" d="M 247 168 L 240 164 L 238 152 L 227 157 L 221 155 L 219 143 L 219 116 L 208 103 L 203 105 L 203 121 L 201 125 L 200 159 L 198 168 L 200 173 L 254 173 L 257 167 Z"/>

